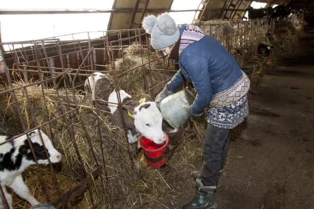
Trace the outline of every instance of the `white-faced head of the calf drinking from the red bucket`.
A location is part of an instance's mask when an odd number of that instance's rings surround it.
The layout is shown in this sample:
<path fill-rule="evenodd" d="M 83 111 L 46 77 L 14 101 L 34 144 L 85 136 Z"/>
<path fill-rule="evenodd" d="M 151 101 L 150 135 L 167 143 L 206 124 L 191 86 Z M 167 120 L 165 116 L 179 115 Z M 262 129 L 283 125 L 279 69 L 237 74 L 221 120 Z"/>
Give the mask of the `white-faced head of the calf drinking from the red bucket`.
<path fill-rule="evenodd" d="M 143 102 L 135 108 L 132 106 L 123 107 L 133 115 L 134 125 L 138 132 L 155 144 L 162 144 L 166 141 L 162 129 L 163 116 L 155 102 Z"/>

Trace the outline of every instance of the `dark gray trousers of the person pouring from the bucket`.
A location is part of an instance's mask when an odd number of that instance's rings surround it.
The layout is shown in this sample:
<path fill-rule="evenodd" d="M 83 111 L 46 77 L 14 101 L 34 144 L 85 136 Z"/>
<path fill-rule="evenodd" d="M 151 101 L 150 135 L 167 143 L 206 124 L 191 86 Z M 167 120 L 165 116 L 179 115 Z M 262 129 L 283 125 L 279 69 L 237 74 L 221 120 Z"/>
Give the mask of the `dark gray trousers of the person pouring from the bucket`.
<path fill-rule="evenodd" d="M 230 130 L 207 123 L 203 144 L 203 171 L 201 172 L 204 186 L 215 186 L 217 183 L 219 170 L 223 169 L 227 159 Z"/>

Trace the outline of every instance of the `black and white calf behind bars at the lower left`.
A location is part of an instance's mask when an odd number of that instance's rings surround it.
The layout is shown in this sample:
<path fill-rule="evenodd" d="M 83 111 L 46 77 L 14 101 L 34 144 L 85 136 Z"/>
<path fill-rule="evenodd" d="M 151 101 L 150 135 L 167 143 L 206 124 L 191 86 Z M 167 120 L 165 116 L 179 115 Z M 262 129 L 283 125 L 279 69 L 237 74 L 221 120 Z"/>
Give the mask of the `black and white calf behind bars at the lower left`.
<path fill-rule="evenodd" d="M 51 163 L 60 162 L 61 154 L 54 149 L 48 136 L 42 131 L 40 131 L 40 133 Z M 39 135 L 39 130 L 29 132 L 28 136 L 32 141 L 38 163 L 47 165 L 49 162 Z M 6 142 L 12 137 L 13 136 L 0 135 L 0 143 Z M 26 135 L 22 135 L 0 146 L 0 183 L 10 208 L 12 208 L 12 196 L 6 191 L 6 186 L 10 187 L 16 194 L 27 200 L 32 206 L 39 204 L 24 184 L 22 178 L 22 172 L 29 165 L 33 164 L 36 164 L 36 162 L 30 150 Z M 0 208 L 6 208 L 5 200 L 1 193 Z"/>

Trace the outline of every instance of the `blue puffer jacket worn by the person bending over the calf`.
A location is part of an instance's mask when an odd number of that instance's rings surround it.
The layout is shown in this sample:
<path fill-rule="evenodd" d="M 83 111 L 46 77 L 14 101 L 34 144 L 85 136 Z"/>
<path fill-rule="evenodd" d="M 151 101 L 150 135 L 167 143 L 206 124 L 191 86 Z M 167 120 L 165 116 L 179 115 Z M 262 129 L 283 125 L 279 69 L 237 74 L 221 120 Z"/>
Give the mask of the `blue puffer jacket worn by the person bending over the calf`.
<path fill-rule="evenodd" d="M 181 34 L 185 25 L 181 26 Z M 179 57 L 180 69 L 167 84 L 170 91 L 176 91 L 184 79 L 193 83 L 197 92 L 192 105 L 195 115 L 203 113 L 213 95 L 225 91 L 242 76 L 241 69 L 232 55 L 211 36 L 187 46 Z"/>

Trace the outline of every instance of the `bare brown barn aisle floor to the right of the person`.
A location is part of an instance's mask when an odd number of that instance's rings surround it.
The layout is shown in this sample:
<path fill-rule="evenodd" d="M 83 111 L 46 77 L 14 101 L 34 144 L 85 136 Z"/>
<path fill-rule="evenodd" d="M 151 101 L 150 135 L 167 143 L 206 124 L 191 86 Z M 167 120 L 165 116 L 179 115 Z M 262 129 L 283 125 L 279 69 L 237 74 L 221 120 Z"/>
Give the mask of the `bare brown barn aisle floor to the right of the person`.
<path fill-rule="evenodd" d="M 249 93 L 215 194 L 218 208 L 314 208 L 314 29 Z"/>

